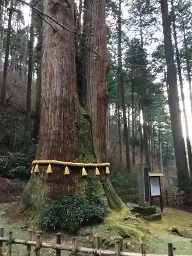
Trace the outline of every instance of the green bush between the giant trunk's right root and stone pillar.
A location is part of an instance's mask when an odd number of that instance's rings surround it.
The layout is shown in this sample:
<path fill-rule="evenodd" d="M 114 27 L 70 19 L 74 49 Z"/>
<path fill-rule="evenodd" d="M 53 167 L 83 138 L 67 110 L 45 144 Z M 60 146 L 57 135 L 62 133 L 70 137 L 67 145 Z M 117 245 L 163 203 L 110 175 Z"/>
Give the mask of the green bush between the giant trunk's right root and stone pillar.
<path fill-rule="evenodd" d="M 124 203 L 135 202 L 138 195 L 138 178 L 134 173 L 111 175 L 117 195 Z"/>

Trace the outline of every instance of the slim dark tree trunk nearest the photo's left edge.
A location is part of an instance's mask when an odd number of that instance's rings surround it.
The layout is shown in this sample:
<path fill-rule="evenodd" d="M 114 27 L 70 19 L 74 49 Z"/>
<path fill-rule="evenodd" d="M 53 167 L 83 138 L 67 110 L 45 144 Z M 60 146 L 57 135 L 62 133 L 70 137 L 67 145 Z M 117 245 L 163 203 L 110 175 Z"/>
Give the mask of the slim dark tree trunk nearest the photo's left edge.
<path fill-rule="evenodd" d="M 8 66 L 9 66 L 9 47 L 10 47 L 10 36 L 11 36 L 12 14 L 13 14 L 13 2 L 11 1 L 11 5 L 10 5 L 10 9 L 9 9 L 9 19 L 8 19 L 8 29 L 7 29 L 6 49 L 5 49 L 5 61 L 4 61 L 3 81 L 2 81 L 2 90 L 1 90 L 2 105 L 6 104 L 6 95 L 7 95 L 7 72 L 8 72 Z"/>

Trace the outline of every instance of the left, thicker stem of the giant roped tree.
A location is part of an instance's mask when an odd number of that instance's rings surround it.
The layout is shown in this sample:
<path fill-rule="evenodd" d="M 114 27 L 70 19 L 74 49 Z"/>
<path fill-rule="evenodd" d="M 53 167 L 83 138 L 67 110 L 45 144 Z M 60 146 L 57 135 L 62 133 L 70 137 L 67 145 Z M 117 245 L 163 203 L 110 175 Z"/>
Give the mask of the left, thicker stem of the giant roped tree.
<path fill-rule="evenodd" d="M 65 2 L 62 2 L 65 5 Z M 62 8 L 55 19 L 72 29 L 74 3 L 70 8 Z M 54 10 L 49 0 L 44 2 L 44 11 L 53 16 Z M 66 19 L 68 16 L 68 19 Z M 44 51 L 42 55 L 41 120 L 36 159 L 55 159 L 76 162 L 79 158 L 78 146 L 78 97 L 75 79 L 75 50 L 73 35 L 56 26 L 60 36 L 46 23 L 43 28 Z M 69 42 L 68 42 L 68 41 Z M 59 79 L 58 79 L 59 77 Z M 58 196 L 77 194 L 78 176 L 72 172 L 63 175 L 63 168 L 53 166 L 53 175 L 46 175 L 45 167 L 39 174 L 33 174 L 24 191 L 20 210 L 26 215 L 39 215 L 46 201 Z"/>

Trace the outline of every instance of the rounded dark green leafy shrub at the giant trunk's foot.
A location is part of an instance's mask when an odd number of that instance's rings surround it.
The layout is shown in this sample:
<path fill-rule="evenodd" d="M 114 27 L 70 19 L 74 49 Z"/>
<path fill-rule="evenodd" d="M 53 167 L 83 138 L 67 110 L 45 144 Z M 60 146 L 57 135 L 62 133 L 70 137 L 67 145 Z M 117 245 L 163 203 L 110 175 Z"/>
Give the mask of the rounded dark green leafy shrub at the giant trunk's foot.
<path fill-rule="evenodd" d="M 76 232 L 82 225 L 93 225 L 103 220 L 105 209 L 77 196 L 66 196 L 54 201 L 40 218 L 40 227 L 48 230 Z"/>

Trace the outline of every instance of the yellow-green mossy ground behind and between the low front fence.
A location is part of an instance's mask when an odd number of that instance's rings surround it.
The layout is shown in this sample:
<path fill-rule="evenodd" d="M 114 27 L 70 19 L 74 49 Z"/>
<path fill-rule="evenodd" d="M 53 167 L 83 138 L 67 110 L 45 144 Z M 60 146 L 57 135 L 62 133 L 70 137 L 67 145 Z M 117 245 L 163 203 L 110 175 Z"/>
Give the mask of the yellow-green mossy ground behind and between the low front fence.
<path fill-rule="evenodd" d="M 14 238 L 26 239 L 28 237 L 27 227 L 23 221 L 11 220 L 5 214 L 9 205 L 0 205 L 0 226 L 5 228 L 5 236 L 10 230 L 13 231 Z M 166 254 L 167 243 L 172 242 L 175 247 L 175 254 L 191 254 L 190 238 L 192 238 L 192 214 L 177 209 L 165 209 L 162 221 L 148 223 L 135 219 L 129 215 L 129 211 L 111 212 L 106 221 L 98 226 L 84 228 L 77 237 L 78 245 L 92 247 L 92 240 L 95 234 L 102 236 L 105 249 L 114 248 L 114 238 L 123 236 L 123 250 L 130 252 L 140 252 L 141 241 L 145 242 L 147 253 Z M 179 236 L 170 230 L 177 228 Z M 33 228 L 35 229 L 35 228 Z M 35 234 L 33 236 L 35 240 Z M 55 233 L 45 233 L 42 241 L 55 241 Z M 71 244 L 71 237 L 62 234 L 62 241 Z M 26 255 L 26 246 L 13 245 L 13 256 Z M 3 255 L 7 254 L 7 246 L 4 243 Z M 34 252 L 33 252 L 34 253 Z M 33 255 L 32 253 L 32 255 Z M 41 250 L 41 255 L 55 254 L 52 250 Z M 69 255 L 62 252 L 62 255 Z"/>

